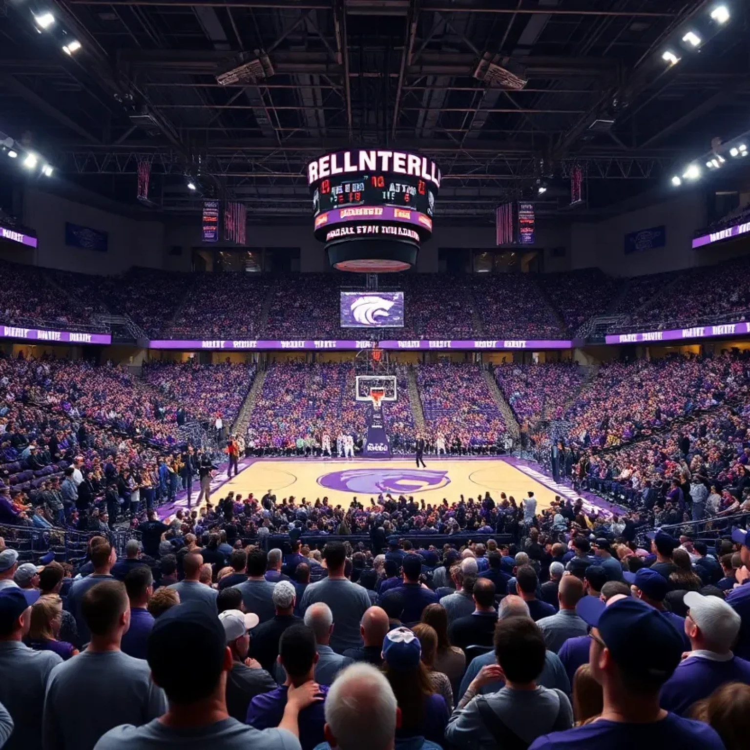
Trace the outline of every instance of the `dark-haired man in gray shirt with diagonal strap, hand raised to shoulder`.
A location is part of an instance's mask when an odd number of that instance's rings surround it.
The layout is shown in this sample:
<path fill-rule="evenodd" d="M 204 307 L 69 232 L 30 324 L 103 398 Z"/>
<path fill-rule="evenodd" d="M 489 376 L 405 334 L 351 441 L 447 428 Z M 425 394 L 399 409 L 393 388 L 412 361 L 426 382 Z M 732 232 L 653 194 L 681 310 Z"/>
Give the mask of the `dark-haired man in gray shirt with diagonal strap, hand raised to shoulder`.
<path fill-rule="evenodd" d="M 546 648 L 532 619 L 498 622 L 494 652 L 497 664 L 482 668 L 453 712 L 446 728 L 449 742 L 466 748 L 527 746 L 538 736 L 573 725 L 567 695 L 536 685 Z M 478 695 L 484 682 L 499 676 L 505 678 L 501 690 Z"/>

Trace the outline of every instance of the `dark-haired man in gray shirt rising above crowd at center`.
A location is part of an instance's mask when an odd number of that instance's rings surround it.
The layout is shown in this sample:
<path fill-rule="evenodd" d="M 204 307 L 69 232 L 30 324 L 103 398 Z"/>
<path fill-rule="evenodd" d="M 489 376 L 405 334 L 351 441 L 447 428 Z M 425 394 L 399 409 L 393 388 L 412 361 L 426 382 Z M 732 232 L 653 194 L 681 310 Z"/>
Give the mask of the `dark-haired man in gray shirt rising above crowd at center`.
<path fill-rule="evenodd" d="M 304 613 L 311 604 L 323 601 L 331 607 L 336 628 L 331 636 L 331 647 L 337 653 L 362 646 L 359 623 L 370 608 L 366 589 L 352 583 L 344 574 L 347 553 L 341 541 L 329 541 L 323 550 L 328 565 L 328 577 L 311 583 L 302 595 L 300 610 Z"/>

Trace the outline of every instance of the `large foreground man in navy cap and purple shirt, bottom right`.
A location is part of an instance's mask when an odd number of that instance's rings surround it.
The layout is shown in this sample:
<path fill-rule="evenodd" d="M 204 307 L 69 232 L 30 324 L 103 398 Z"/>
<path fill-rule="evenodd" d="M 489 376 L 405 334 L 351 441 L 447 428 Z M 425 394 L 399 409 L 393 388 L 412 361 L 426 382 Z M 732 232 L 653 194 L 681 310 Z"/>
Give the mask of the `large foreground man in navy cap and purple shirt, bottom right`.
<path fill-rule="evenodd" d="M 587 598 L 589 605 L 597 604 Z M 645 601 L 624 595 L 579 614 L 592 626 L 589 665 L 601 685 L 604 707 L 590 724 L 541 736 L 529 750 L 724 748 L 707 724 L 659 706 L 661 686 L 682 658 L 682 637 L 671 622 Z"/>

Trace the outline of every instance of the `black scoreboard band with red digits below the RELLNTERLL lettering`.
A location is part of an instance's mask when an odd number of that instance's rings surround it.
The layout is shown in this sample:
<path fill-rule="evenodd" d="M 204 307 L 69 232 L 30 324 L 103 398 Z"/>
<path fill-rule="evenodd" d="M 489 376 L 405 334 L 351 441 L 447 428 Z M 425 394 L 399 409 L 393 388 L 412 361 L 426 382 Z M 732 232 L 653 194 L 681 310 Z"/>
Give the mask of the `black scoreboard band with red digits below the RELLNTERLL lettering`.
<path fill-rule="evenodd" d="M 313 193 L 313 213 L 350 205 L 395 205 L 432 216 L 435 193 L 419 177 L 360 174 L 323 178 Z"/>

